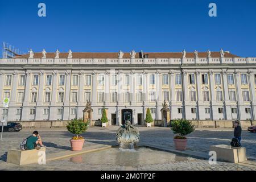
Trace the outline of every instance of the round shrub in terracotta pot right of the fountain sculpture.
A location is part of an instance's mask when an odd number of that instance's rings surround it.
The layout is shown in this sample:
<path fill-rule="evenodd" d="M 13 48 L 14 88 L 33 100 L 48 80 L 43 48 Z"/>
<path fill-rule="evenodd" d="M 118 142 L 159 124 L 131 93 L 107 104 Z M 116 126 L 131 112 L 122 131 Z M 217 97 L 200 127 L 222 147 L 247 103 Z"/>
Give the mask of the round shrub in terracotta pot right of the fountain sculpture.
<path fill-rule="evenodd" d="M 187 138 L 185 135 L 192 133 L 195 130 L 195 125 L 187 119 L 177 119 L 172 121 L 171 130 L 174 134 L 178 134 L 174 137 L 174 144 L 176 150 L 186 150 Z"/>

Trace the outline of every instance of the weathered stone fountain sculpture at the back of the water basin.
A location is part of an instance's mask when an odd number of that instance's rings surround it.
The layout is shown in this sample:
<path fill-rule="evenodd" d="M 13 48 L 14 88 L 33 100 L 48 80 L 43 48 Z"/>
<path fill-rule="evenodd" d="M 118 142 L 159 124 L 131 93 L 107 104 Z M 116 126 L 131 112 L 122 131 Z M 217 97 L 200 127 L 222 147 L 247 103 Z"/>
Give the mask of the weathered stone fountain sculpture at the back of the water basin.
<path fill-rule="evenodd" d="M 139 142 L 139 130 L 131 125 L 130 121 L 125 121 L 125 125 L 119 127 L 115 137 L 120 148 L 134 149 L 134 146 Z"/>

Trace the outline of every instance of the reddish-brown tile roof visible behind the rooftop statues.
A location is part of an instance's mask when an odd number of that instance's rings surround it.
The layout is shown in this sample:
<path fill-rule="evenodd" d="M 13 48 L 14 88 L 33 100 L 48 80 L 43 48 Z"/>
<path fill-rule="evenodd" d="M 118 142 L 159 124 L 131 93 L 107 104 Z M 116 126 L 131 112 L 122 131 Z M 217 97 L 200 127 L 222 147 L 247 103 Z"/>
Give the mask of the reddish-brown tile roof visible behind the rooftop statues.
<path fill-rule="evenodd" d="M 148 55 L 148 58 L 181 58 L 183 56 L 182 52 L 143 52 L 143 55 Z M 73 59 L 90 59 L 90 58 L 98 58 L 98 59 L 117 59 L 118 58 L 118 52 L 73 52 L 72 53 Z M 199 57 L 207 57 L 207 52 L 199 52 Z M 16 56 L 15 59 L 27 59 L 29 57 L 29 54 Z M 54 58 L 55 53 L 54 52 L 48 52 L 46 54 L 47 58 Z M 67 58 L 68 53 L 60 53 L 60 58 Z M 187 58 L 195 57 L 195 54 L 193 52 L 187 52 L 186 53 Z M 220 52 L 212 52 L 211 57 L 218 58 L 220 57 Z M 233 55 L 232 53 L 225 52 L 224 57 L 240 57 L 237 55 Z M 42 53 L 34 53 L 34 58 L 40 59 L 42 58 Z M 123 58 L 130 58 L 129 52 L 123 53 Z M 141 52 L 137 52 L 135 55 L 135 58 L 142 58 Z"/>

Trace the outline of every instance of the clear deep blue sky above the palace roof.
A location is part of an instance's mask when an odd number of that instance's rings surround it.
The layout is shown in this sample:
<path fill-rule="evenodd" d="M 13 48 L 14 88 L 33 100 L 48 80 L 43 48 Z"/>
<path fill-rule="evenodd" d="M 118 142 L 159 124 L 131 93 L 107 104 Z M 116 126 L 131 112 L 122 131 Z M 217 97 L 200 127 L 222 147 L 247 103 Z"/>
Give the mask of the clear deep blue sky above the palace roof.
<path fill-rule="evenodd" d="M 38 4 L 46 3 L 45 18 Z M 210 2 L 217 17 L 208 16 Z M 27 52 L 219 51 L 256 56 L 255 0 L 0 1 L 0 43 Z M 2 51 L 2 50 L 1 50 Z"/>

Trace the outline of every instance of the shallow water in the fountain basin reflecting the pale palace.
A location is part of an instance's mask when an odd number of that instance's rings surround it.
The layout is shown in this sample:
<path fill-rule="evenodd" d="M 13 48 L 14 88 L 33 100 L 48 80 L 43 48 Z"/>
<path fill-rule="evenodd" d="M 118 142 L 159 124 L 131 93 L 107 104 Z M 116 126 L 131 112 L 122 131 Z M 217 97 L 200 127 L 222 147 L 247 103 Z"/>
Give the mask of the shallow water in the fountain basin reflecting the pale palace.
<path fill-rule="evenodd" d="M 135 150 L 119 149 L 116 147 L 106 150 L 89 152 L 82 155 L 65 158 L 71 163 L 84 164 L 112 164 L 116 166 L 143 166 L 146 164 L 164 164 L 177 161 L 188 160 L 184 156 L 172 154 L 170 152 L 153 150 L 146 147 L 138 147 Z"/>

